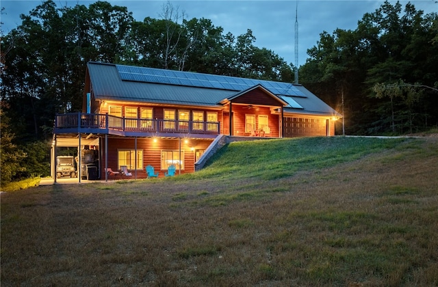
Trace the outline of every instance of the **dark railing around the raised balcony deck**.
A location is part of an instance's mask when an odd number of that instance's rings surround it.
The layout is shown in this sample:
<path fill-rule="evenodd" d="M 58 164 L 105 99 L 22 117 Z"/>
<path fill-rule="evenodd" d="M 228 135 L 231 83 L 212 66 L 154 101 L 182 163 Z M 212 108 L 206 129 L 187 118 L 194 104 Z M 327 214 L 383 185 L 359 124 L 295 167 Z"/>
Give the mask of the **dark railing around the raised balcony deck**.
<path fill-rule="evenodd" d="M 101 113 L 63 113 L 56 115 L 55 133 L 66 129 L 99 129 L 144 133 L 197 133 L 218 135 L 219 122 L 120 118 Z"/>

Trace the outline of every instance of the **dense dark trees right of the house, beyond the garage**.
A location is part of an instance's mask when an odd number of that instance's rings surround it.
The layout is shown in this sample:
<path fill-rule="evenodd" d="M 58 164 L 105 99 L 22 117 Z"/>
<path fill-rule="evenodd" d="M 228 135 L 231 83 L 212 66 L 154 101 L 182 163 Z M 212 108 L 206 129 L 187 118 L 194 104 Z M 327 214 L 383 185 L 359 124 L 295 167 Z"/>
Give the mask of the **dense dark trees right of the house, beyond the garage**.
<path fill-rule="evenodd" d="M 385 1 L 364 14 L 355 30 L 322 32 L 307 53 L 301 83 L 344 114 L 347 134 L 438 127 L 436 12 Z"/>

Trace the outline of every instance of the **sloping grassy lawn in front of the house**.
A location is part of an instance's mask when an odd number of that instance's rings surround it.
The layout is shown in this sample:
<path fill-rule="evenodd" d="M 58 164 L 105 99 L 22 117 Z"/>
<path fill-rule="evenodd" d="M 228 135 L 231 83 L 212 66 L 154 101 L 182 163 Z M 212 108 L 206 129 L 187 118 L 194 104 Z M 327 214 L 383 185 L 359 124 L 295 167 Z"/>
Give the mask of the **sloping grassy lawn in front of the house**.
<path fill-rule="evenodd" d="M 1 195 L 2 286 L 437 286 L 438 137 L 231 143 Z"/>

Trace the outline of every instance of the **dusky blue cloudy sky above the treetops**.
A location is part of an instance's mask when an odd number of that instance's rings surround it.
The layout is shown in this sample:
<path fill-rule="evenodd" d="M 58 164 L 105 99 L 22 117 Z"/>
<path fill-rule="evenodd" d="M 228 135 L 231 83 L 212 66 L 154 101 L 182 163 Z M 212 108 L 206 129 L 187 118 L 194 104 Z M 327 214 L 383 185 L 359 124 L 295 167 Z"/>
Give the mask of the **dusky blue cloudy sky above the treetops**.
<path fill-rule="evenodd" d="M 54 0 L 57 7 L 65 5 L 90 5 L 95 1 Z M 142 21 L 147 16 L 161 18 L 166 1 L 107 0 L 112 5 L 125 6 L 133 17 Z M 396 1 L 389 1 L 394 5 Z M 417 10 L 426 14 L 438 12 L 435 0 L 411 0 Z M 8 33 L 21 24 L 20 14 L 29 14 L 42 3 L 41 0 L 0 0 L 1 31 Z M 253 31 L 255 46 L 266 48 L 297 66 L 305 64 L 307 49 L 316 46 L 320 33 L 333 33 L 335 29 L 356 29 L 363 14 L 374 12 L 383 0 L 172 0 L 170 3 L 186 18 L 207 18 L 215 27 L 222 27 L 223 34 L 231 32 L 237 37 Z M 406 5 L 408 1 L 400 1 Z M 298 63 L 295 62 L 295 23 L 298 10 Z"/>

